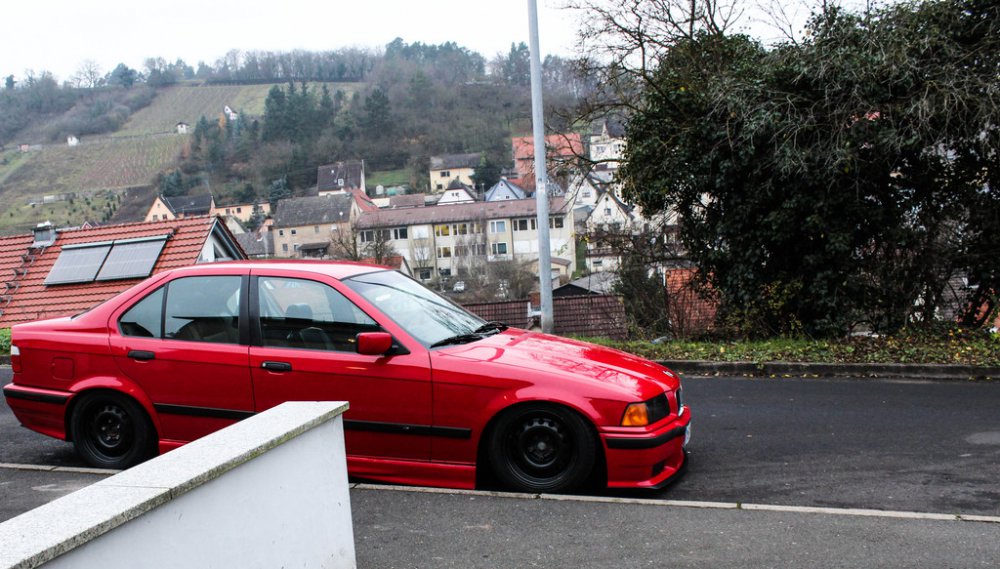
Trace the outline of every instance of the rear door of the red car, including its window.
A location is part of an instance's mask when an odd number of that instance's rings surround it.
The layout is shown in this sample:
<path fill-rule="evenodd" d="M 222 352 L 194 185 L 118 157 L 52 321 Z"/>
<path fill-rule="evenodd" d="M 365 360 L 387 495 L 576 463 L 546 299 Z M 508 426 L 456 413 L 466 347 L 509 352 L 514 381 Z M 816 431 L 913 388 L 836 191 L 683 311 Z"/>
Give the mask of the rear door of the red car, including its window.
<path fill-rule="evenodd" d="M 161 440 L 187 442 L 253 414 L 248 277 L 175 278 L 113 318 L 119 369 L 153 401 Z"/>

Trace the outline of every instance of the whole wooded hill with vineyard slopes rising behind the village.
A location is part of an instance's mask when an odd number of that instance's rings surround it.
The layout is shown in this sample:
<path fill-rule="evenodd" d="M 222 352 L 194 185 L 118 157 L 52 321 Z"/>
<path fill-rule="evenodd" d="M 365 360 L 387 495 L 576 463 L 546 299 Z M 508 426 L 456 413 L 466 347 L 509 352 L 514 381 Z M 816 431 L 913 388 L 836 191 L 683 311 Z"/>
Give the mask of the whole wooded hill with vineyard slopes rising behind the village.
<path fill-rule="evenodd" d="M 588 90 L 572 61 L 550 57 L 544 69 L 550 110 Z M 481 152 L 500 165 L 510 137 L 530 129 L 529 77 L 523 44 L 487 61 L 453 43 L 402 40 L 371 52 L 234 51 L 197 69 L 150 59 L 62 84 L 44 72 L 8 76 L 0 234 L 44 220 L 125 221 L 141 208 L 125 215 L 123 204 L 158 191 L 211 191 L 220 202 L 297 195 L 316 166 L 338 160 L 363 159 L 375 179 L 417 189 L 431 155 Z M 550 128 L 573 126 L 557 116 Z"/>

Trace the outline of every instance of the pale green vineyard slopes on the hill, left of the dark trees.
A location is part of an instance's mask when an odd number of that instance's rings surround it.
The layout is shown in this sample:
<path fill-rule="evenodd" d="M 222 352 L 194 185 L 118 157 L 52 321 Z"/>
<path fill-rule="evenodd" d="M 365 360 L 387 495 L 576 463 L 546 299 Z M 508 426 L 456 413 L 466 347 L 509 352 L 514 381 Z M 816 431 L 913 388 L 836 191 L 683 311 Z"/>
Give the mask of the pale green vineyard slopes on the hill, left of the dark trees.
<path fill-rule="evenodd" d="M 330 86 L 347 92 L 357 88 L 353 84 Z M 67 225 L 101 221 L 109 191 L 117 196 L 112 201 L 118 214 L 115 218 L 120 219 L 126 212 L 117 211 L 117 205 L 126 188 L 150 186 L 158 173 L 178 163 L 190 139 L 190 135 L 176 134 L 178 122 L 194 125 L 202 116 L 214 119 L 226 105 L 238 112 L 262 115 L 271 87 L 179 83 L 159 90 L 149 106 L 134 113 L 114 133 L 84 137 L 75 147 L 64 142 L 33 144 L 27 152 L 8 147 L 0 152 L 0 234 L 23 232 L 45 220 Z M 19 140 L 35 142 L 45 127 L 42 123 L 28 125 Z M 134 198 L 139 191 L 131 193 L 129 197 Z M 78 199 L 72 204 L 51 199 L 67 194 Z M 80 203 L 82 200 L 86 201 Z M 128 209 L 135 207 L 133 204 Z"/>

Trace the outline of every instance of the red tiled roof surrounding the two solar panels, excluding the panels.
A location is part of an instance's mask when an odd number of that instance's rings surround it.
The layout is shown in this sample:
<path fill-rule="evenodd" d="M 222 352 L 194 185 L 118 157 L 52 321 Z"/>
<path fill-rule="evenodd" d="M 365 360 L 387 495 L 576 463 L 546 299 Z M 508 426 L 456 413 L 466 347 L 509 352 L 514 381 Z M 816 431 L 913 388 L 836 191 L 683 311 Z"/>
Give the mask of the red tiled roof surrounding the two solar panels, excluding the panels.
<path fill-rule="evenodd" d="M 153 273 L 194 265 L 201 255 L 216 218 L 185 217 L 170 221 L 104 225 L 89 229 L 60 231 L 55 243 L 32 258 L 26 256 L 34 238 L 31 234 L 0 238 L 0 328 L 18 322 L 68 316 L 115 296 L 143 279 L 94 281 L 45 286 L 45 277 L 59 258 L 62 247 L 116 239 L 169 235 Z M 224 224 L 219 224 L 223 231 Z M 235 240 L 234 240 L 235 241 Z"/>

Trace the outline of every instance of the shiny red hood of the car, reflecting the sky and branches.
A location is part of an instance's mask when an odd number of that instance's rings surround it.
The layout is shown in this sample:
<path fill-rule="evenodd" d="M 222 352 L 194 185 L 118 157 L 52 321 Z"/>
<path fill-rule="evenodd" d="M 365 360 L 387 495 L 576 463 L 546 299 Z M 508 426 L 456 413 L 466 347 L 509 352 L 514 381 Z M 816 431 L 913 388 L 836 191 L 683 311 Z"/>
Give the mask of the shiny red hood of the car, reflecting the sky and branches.
<path fill-rule="evenodd" d="M 525 330 L 508 329 L 482 340 L 437 352 L 442 359 L 476 362 L 491 373 L 524 377 L 598 382 L 640 398 L 653 397 L 680 385 L 666 367 L 638 356 Z"/>

